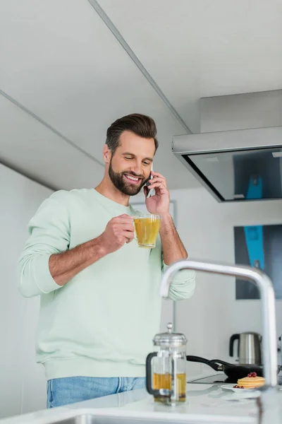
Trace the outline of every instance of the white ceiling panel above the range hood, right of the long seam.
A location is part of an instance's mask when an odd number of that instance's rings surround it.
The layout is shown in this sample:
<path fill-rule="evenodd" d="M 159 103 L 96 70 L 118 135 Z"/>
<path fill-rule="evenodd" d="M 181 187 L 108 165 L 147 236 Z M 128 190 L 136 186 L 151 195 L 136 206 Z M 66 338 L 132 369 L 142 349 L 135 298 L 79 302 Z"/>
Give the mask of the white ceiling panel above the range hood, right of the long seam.
<path fill-rule="evenodd" d="M 281 0 L 98 0 L 192 132 L 198 99 L 282 87 Z"/>

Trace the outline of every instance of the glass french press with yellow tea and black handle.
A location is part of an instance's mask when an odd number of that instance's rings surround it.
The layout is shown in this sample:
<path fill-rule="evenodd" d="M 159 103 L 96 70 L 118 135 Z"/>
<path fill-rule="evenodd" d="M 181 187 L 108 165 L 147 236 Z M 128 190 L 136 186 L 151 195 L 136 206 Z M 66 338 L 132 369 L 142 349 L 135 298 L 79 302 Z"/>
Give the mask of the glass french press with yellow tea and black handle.
<path fill-rule="evenodd" d="M 186 400 L 186 343 L 184 334 L 173 333 L 167 324 L 166 333 L 153 339 L 158 351 L 146 358 L 146 387 L 154 401 L 176 405 Z"/>

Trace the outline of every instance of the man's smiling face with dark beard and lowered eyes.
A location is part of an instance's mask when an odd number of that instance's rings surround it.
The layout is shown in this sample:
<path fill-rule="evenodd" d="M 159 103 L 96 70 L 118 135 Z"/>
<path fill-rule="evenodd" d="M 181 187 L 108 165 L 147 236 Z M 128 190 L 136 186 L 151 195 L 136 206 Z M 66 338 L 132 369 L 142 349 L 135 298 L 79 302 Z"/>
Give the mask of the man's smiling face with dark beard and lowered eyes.
<path fill-rule="evenodd" d="M 127 196 L 138 194 L 149 179 L 154 153 L 154 139 L 123 131 L 120 145 L 109 163 L 111 182 Z"/>

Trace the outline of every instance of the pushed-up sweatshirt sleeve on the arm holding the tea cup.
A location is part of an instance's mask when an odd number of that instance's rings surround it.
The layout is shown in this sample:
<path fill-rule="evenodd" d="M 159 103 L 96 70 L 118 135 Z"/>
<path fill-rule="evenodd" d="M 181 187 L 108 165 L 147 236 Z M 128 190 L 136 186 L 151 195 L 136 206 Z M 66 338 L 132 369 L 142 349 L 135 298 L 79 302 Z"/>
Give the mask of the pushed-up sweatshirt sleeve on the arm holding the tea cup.
<path fill-rule="evenodd" d="M 61 288 L 49 271 L 49 258 L 69 247 L 67 193 L 61 190 L 44 200 L 28 224 L 30 237 L 18 261 L 19 289 L 25 298 Z"/>

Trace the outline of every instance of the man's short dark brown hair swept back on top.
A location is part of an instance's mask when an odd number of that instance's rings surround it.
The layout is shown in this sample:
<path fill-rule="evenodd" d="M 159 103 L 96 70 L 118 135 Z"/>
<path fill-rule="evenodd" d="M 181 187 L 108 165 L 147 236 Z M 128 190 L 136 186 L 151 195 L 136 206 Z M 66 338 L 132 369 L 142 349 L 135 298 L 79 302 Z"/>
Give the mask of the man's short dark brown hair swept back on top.
<path fill-rule="evenodd" d="M 154 139 L 155 151 L 157 151 L 159 147 L 159 142 L 156 139 L 157 127 L 151 117 L 133 113 L 116 119 L 106 130 L 106 145 L 112 154 L 115 153 L 116 148 L 119 146 L 120 136 L 123 131 L 132 131 L 137 136 L 144 137 L 144 139 Z"/>

